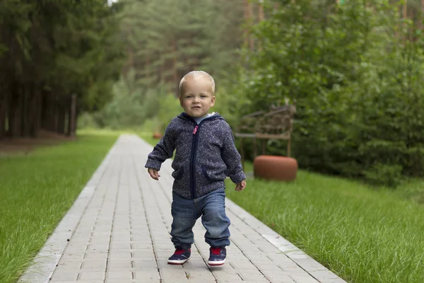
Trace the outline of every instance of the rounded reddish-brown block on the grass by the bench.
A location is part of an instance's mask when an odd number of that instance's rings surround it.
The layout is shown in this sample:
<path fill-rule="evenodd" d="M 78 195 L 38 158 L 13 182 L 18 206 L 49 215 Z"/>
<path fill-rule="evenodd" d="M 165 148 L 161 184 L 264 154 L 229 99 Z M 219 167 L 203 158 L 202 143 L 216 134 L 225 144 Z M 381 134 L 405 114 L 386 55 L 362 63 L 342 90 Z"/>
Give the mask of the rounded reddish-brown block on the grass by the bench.
<path fill-rule="evenodd" d="M 254 158 L 253 171 L 255 178 L 293 181 L 298 173 L 298 161 L 285 156 L 261 155 Z"/>

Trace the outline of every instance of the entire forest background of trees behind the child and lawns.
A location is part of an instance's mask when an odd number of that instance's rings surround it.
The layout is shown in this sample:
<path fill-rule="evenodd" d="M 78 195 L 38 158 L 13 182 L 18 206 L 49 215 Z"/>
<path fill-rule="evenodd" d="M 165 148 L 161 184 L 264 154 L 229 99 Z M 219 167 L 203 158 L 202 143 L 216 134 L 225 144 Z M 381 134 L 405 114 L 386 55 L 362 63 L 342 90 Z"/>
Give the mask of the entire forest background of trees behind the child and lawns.
<path fill-rule="evenodd" d="M 424 1 L 107 2 L 0 1 L 0 139 L 163 132 L 179 79 L 202 69 L 233 129 L 295 101 L 301 168 L 391 187 L 423 176 Z"/>

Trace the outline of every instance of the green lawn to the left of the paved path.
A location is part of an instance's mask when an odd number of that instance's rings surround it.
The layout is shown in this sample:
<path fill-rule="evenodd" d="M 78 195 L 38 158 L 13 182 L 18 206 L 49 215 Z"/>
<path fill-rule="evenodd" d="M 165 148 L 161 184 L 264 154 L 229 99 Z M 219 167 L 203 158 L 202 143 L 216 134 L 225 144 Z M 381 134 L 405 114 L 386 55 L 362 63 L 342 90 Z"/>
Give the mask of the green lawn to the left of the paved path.
<path fill-rule="evenodd" d="M 27 156 L 1 156 L 0 282 L 16 282 L 116 138 L 116 132 L 83 132 Z"/>

